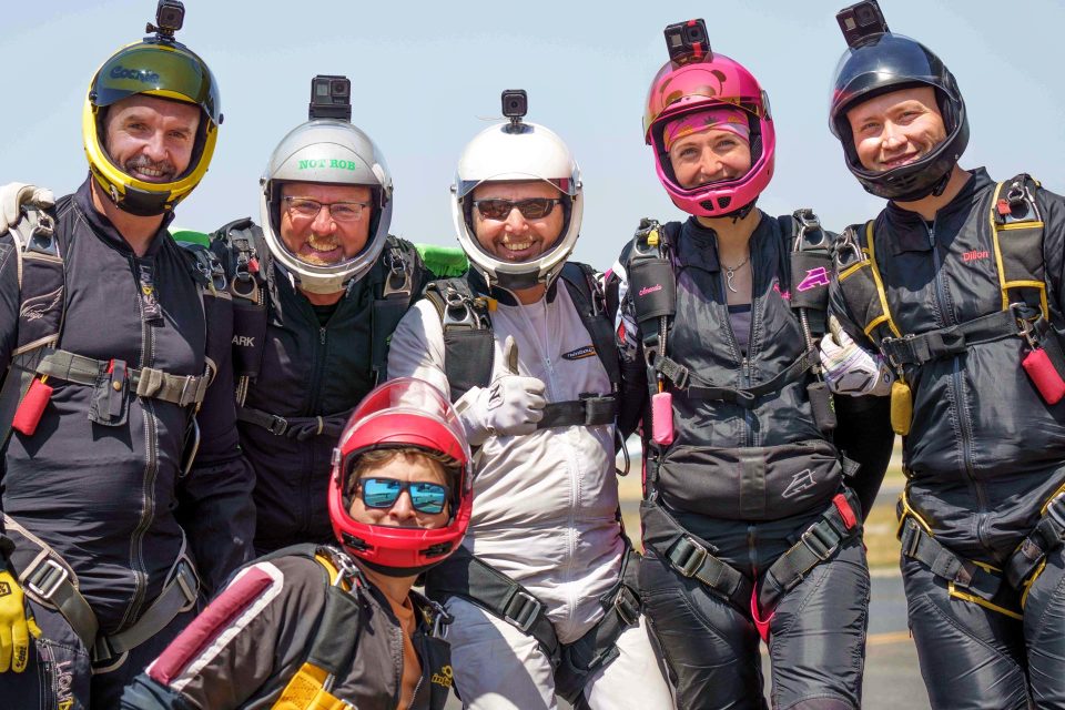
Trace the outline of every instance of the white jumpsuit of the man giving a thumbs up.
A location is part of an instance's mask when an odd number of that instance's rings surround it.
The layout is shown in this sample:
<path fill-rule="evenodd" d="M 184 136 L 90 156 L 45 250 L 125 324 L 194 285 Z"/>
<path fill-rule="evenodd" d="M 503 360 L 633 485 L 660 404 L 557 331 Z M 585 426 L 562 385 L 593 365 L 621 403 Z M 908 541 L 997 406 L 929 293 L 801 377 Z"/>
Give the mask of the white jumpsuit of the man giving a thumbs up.
<path fill-rule="evenodd" d="M 491 313 L 491 378 L 505 373 L 503 343 L 514 337 L 520 375 L 538 377 L 548 402 L 607 394 L 610 381 L 566 287 L 537 303 Z M 448 392 L 444 333 L 436 308 L 418 302 L 392 337 L 389 377 L 413 376 Z M 604 610 L 599 597 L 617 581 L 625 546 L 616 519 L 613 426 L 567 426 L 525 436 L 489 437 L 475 459 L 474 513 L 464 545 L 521 582 L 547 607 L 558 639 L 579 639 Z M 557 708 L 551 667 L 536 640 L 458 598 L 448 629 L 455 682 L 468 708 Z M 672 708 L 647 629 L 627 629 L 620 655 L 589 677 L 592 710 Z"/>

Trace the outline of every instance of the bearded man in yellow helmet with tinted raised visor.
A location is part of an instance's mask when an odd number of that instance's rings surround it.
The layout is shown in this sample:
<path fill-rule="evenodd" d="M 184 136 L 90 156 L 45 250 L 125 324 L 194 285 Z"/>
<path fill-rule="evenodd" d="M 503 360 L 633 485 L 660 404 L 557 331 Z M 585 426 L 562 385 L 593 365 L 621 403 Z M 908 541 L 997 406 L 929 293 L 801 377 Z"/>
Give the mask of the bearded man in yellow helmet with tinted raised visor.
<path fill-rule="evenodd" d="M 166 231 L 222 121 L 174 29 L 104 62 L 83 113 L 89 179 L 0 235 L 4 707 L 115 708 L 252 557 L 230 303 Z M 12 582 L 40 633 L 8 670 Z"/>

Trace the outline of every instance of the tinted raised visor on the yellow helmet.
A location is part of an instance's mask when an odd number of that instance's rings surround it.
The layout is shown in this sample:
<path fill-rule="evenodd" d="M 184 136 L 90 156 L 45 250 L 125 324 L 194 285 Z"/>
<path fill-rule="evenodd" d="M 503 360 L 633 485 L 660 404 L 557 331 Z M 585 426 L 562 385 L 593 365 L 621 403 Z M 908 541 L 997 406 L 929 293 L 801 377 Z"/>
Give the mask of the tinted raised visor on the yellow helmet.
<path fill-rule="evenodd" d="M 92 102 L 109 106 L 139 93 L 194 103 L 219 122 L 216 84 L 206 64 L 189 52 L 155 44 L 120 51 L 97 73 Z"/>

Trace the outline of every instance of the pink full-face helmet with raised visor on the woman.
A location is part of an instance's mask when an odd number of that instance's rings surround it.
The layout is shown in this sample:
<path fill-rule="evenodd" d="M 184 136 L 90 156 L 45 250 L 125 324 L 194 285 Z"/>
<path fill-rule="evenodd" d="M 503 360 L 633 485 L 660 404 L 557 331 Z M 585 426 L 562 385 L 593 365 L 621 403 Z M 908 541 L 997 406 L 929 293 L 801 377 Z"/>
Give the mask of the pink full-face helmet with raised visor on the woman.
<path fill-rule="evenodd" d="M 724 54 L 707 49 L 683 63 L 667 62 L 655 75 L 645 105 L 643 138 L 655 150 L 658 179 L 673 204 L 703 217 L 724 216 L 753 205 L 773 176 L 777 133 L 769 97 L 751 72 Z M 682 187 L 673 176 L 662 131 L 673 119 L 720 106 L 737 106 L 747 113 L 751 126 L 751 169 L 734 180 Z"/>

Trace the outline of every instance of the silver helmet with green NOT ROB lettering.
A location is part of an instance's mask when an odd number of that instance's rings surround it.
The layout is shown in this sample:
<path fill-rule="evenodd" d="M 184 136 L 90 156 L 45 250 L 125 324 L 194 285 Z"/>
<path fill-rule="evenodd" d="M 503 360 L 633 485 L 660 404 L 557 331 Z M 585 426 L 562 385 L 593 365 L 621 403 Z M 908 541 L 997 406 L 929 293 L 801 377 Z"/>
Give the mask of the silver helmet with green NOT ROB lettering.
<path fill-rule="evenodd" d="M 310 264 L 293 254 L 280 234 L 281 185 L 286 182 L 369 187 L 373 217 L 366 246 L 333 264 Z M 317 119 L 297 125 L 274 149 L 260 184 L 260 221 L 266 245 L 304 291 L 343 291 L 349 282 L 362 278 L 381 256 L 392 223 L 392 174 L 377 145 L 351 123 Z"/>

